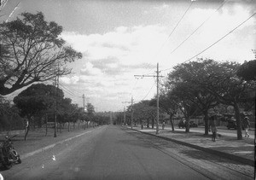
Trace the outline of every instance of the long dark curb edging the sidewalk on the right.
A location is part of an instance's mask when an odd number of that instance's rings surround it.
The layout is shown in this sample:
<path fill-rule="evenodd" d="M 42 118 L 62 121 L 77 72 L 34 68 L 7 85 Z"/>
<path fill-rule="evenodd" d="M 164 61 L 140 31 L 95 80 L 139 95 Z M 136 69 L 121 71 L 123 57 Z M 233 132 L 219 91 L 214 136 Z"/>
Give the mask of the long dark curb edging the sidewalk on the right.
<path fill-rule="evenodd" d="M 133 131 L 138 131 L 138 130 L 131 129 L 131 128 L 128 128 L 128 129 L 133 130 Z M 188 142 L 181 142 L 181 141 L 178 141 L 176 139 L 172 139 L 172 138 L 169 138 L 169 137 L 166 137 L 166 136 L 158 136 L 158 135 L 154 135 L 154 134 L 151 134 L 151 133 L 148 133 L 148 132 L 143 132 L 143 131 L 138 131 L 138 132 L 141 132 L 143 134 L 150 135 L 150 136 L 156 136 L 156 137 L 159 137 L 161 139 L 165 139 L 167 141 L 176 142 L 178 144 L 188 146 L 190 148 L 195 148 L 195 149 L 198 149 L 198 150 L 201 150 L 201 151 L 205 151 L 205 152 L 210 153 L 210 154 L 216 154 L 218 156 L 223 156 L 224 158 L 228 158 L 230 160 L 235 160 L 235 161 L 238 161 L 238 162 L 243 163 L 243 164 L 247 164 L 247 165 L 251 165 L 251 166 L 255 165 L 254 160 L 248 160 L 246 158 L 242 158 L 240 156 L 236 156 L 236 155 L 233 155 L 233 154 L 224 153 L 224 152 L 221 152 L 221 151 L 213 150 L 211 148 L 203 148 L 201 146 L 196 146 L 196 145 L 188 143 Z"/>

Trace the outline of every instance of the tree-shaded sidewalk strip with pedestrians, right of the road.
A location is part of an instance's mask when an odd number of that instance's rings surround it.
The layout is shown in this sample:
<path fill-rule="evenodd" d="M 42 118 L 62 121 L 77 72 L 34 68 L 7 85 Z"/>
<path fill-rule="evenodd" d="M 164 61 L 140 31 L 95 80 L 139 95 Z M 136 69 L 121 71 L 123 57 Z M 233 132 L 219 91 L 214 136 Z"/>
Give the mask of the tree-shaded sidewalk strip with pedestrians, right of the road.
<path fill-rule="evenodd" d="M 130 127 L 129 127 L 130 128 Z M 212 142 L 212 133 L 209 132 L 208 136 L 204 135 L 204 129 L 189 129 L 189 133 L 185 132 L 185 129 L 175 129 L 166 127 L 165 130 L 160 128 L 159 135 L 155 135 L 155 128 L 143 128 L 133 127 L 135 131 L 141 131 L 152 136 L 160 136 L 168 141 L 177 142 L 191 148 L 201 149 L 212 154 L 218 154 L 236 160 L 247 165 L 254 166 L 254 135 L 250 135 L 250 138 L 244 138 L 243 140 L 237 140 L 236 134 L 227 132 L 218 132 L 220 136 L 216 139 L 216 142 Z M 254 133 L 251 132 L 251 133 Z"/>

